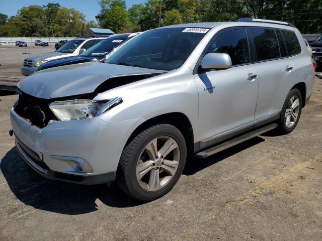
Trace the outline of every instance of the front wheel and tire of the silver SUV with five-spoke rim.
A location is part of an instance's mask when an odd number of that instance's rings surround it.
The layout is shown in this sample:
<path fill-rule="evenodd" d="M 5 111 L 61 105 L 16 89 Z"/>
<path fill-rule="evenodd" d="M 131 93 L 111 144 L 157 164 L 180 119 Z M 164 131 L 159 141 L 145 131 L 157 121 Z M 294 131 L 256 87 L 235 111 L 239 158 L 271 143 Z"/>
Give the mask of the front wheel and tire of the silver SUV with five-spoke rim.
<path fill-rule="evenodd" d="M 124 148 L 117 183 L 132 198 L 151 201 L 166 195 L 179 180 L 187 157 L 181 132 L 169 124 L 154 125 Z"/>

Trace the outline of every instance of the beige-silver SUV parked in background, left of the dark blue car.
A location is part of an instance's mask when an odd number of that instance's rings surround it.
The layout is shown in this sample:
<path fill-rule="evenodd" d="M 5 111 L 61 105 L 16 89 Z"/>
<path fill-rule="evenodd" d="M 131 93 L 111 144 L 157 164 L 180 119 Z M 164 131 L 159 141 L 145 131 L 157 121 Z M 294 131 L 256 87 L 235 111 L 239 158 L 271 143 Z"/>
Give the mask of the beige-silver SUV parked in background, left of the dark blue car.
<path fill-rule="evenodd" d="M 21 73 L 25 76 L 31 75 L 38 70 L 40 65 L 48 61 L 77 56 L 104 39 L 106 38 L 80 37 L 68 41 L 55 52 L 27 57 L 21 66 Z"/>

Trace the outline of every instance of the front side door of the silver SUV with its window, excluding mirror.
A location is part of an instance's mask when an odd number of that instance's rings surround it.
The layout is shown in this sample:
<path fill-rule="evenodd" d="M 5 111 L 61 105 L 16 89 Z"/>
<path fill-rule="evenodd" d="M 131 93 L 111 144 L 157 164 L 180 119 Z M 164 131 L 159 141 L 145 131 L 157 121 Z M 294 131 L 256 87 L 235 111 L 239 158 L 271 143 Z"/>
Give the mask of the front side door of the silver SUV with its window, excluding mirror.
<path fill-rule="evenodd" d="M 232 67 L 200 70 L 194 75 L 199 89 L 201 148 L 241 129 L 252 128 L 258 94 L 258 74 L 251 64 L 246 28 L 220 31 L 203 56 L 208 53 L 227 53 Z"/>

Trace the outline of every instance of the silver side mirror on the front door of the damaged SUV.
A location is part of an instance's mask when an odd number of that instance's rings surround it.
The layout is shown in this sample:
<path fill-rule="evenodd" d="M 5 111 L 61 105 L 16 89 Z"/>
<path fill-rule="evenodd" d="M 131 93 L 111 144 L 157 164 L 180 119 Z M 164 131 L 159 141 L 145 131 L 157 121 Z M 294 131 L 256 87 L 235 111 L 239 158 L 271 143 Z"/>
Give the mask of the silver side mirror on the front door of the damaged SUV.
<path fill-rule="evenodd" d="M 228 69 L 231 67 L 231 59 L 228 54 L 209 53 L 203 57 L 201 68 L 203 69 Z"/>

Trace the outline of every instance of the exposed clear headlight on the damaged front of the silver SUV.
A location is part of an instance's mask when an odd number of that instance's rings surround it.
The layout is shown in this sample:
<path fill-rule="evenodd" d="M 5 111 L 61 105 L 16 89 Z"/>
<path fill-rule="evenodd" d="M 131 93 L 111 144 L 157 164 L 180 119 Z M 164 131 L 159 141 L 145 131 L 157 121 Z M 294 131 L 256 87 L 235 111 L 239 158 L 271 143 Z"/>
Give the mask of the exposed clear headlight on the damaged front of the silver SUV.
<path fill-rule="evenodd" d="M 55 101 L 49 108 L 60 121 L 94 118 L 122 102 L 121 97 L 107 100 L 75 99 Z"/>

